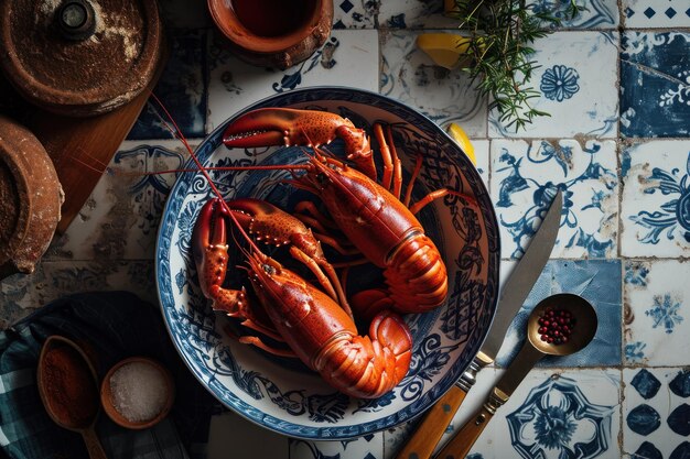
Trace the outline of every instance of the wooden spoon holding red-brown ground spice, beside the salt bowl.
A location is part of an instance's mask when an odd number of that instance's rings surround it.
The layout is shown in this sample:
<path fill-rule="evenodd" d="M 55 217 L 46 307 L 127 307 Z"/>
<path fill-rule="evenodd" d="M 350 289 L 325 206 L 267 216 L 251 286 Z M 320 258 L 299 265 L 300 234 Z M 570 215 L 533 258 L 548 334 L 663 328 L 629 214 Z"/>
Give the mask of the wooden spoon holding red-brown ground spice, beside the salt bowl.
<path fill-rule="evenodd" d="M 69 419 L 68 416 L 61 416 L 61 414 L 56 411 L 56 406 L 58 404 L 65 404 L 65 400 L 57 400 L 64 396 L 64 392 L 61 393 L 60 397 L 54 396 L 54 392 L 51 392 L 51 386 L 55 385 L 56 382 L 54 381 L 55 375 L 50 374 L 47 361 L 48 352 L 55 351 L 61 348 L 67 348 L 69 349 L 69 351 L 76 351 L 76 353 L 73 353 L 73 356 L 78 356 L 77 359 L 82 360 L 79 364 L 84 364 L 84 367 L 88 370 L 87 378 L 90 380 L 90 383 L 94 386 L 93 391 L 85 391 L 84 393 L 79 394 L 79 396 L 82 397 L 80 402 L 84 403 L 84 405 L 82 406 L 88 406 L 87 403 L 89 401 L 85 400 L 84 397 L 87 397 L 89 395 L 89 392 L 95 397 L 94 401 L 91 401 L 94 402 L 93 413 L 88 413 L 88 416 L 85 416 L 84 419 L 76 422 Z M 73 376 L 75 375 L 73 374 Z M 94 369 L 91 362 L 89 361 L 86 353 L 82 350 L 82 348 L 79 348 L 74 341 L 65 337 L 61 337 L 57 335 L 48 337 L 45 340 L 43 349 L 41 350 L 41 356 L 39 357 L 39 371 L 36 380 L 39 385 L 39 393 L 41 394 L 41 400 L 43 401 L 43 405 L 45 406 L 48 416 L 51 416 L 51 419 L 53 419 L 55 424 L 63 428 L 66 428 L 67 430 L 73 430 L 82 434 L 84 442 L 86 444 L 86 449 L 88 450 L 89 458 L 107 459 L 106 452 L 104 451 L 95 430 L 96 418 L 98 417 L 98 411 L 100 408 L 100 398 L 98 395 L 98 378 L 96 376 L 96 370 Z M 74 404 L 74 401 L 69 402 L 73 404 L 73 406 L 76 405 Z"/>

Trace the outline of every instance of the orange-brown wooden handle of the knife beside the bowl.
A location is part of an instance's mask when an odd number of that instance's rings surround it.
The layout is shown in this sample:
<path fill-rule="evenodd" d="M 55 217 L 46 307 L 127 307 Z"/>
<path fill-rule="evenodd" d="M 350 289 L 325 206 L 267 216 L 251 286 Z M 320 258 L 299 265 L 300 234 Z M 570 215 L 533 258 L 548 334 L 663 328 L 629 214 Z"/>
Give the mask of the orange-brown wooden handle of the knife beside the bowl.
<path fill-rule="evenodd" d="M 429 459 L 467 393 L 456 385 L 434 403 L 396 459 Z"/>

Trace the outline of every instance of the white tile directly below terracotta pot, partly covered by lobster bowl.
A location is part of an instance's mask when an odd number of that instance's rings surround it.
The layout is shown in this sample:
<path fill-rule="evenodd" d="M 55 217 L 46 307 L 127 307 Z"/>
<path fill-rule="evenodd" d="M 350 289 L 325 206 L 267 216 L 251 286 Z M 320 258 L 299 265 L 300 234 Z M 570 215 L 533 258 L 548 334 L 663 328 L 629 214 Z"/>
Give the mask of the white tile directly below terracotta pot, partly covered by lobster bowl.
<path fill-rule="evenodd" d="M 374 30 L 333 31 L 321 50 L 285 70 L 246 64 L 220 43 L 209 53 L 209 130 L 245 107 L 292 89 L 348 86 L 378 91 L 378 34 Z"/>

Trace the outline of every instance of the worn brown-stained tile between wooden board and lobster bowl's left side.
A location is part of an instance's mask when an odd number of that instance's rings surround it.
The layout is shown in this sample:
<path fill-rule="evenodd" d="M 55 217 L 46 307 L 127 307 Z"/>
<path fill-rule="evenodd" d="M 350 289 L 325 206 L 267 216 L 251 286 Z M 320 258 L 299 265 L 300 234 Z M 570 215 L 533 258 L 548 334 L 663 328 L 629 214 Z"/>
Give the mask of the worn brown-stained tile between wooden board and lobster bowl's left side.
<path fill-rule="evenodd" d="M 87 205 L 46 260 L 152 260 L 155 238 L 174 174 L 144 172 L 180 168 L 188 154 L 177 140 L 140 144 L 126 141 L 114 155 Z"/>

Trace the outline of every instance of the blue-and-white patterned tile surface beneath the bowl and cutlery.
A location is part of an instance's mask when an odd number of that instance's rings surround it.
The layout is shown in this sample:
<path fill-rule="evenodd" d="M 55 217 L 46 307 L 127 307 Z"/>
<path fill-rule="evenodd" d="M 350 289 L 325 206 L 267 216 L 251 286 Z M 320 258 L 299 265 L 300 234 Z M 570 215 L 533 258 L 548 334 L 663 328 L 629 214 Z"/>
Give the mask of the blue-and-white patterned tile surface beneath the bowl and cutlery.
<path fill-rule="evenodd" d="M 537 108 L 525 131 L 497 121 L 460 70 L 414 46 L 428 30 L 453 31 L 440 0 L 335 0 L 322 50 L 284 72 L 257 68 L 223 46 L 201 3 L 161 0 L 173 55 L 155 89 L 198 142 L 240 108 L 317 85 L 379 91 L 445 127 L 462 124 L 502 222 L 503 276 L 533 233 L 539 198 L 560 184 L 565 210 L 552 260 L 510 329 L 498 364 L 479 373 L 446 433 L 476 408 L 543 296 L 579 293 L 600 330 L 583 352 L 545 360 L 498 412 L 472 459 L 690 457 L 690 3 L 578 0 L 586 11 L 535 44 Z M 562 8 L 533 0 L 535 8 Z M 155 232 L 173 176 L 121 171 L 179 167 L 185 153 L 149 105 L 69 230 L 31 276 L 0 283 L 0 325 L 69 292 L 131 289 L 157 302 Z M 236 458 L 395 456 L 414 422 L 346 441 L 279 437 L 233 414 Z M 251 441 L 241 441 L 251 439 Z M 238 445 L 248 445 L 246 448 Z M 209 453 L 212 457 L 213 453 Z"/>

